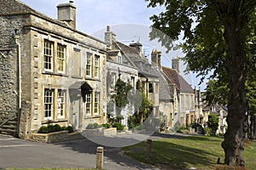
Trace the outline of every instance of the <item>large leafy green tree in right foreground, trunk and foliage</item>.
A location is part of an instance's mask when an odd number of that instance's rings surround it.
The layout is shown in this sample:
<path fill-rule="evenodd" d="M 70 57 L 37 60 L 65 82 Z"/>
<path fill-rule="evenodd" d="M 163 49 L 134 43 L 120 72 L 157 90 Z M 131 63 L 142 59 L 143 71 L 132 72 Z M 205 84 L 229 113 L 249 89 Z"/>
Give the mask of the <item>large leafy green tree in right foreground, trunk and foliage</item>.
<path fill-rule="evenodd" d="M 189 69 L 206 76 L 214 71 L 228 83 L 228 130 L 222 147 L 224 162 L 244 166 L 242 150 L 247 124 L 247 44 L 255 40 L 255 0 L 146 0 L 148 7 L 162 5 L 166 11 L 150 17 L 153 27 L 150 37 L 158 38 L 168 50 L 183 34 L 184 60 Z M 167 36 L 171 37 L 168 39 Z M 251 59 L 255 63 L 255 59 Z"/>

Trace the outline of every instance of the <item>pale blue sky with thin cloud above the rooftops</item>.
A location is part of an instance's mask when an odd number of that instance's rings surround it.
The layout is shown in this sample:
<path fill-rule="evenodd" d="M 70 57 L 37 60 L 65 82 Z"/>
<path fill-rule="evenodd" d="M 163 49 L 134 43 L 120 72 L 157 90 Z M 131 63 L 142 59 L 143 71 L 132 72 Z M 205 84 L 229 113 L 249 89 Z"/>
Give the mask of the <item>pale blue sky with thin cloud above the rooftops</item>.
<path fill-rule="evenodd" d="M 57 18 L 56 6 L 60 3 L 68 3 L 68 0 L 20 0 L 38 12 L 53 19 Z M 144 0 L 74 0 L 77 7 L 76 29 L 97 37 L 103 41 L 106 26 L 116 34 L 120 42 L 140 41 L 143 43 L 143 54 L 149 56 L 153 48 L 162 52 L 161 64 L 171 66 L 172 58 L 183 57 L 181 50 L 171 51 L 166 54 L 166 48 L 161 47 L 160 42 L 150 41 L 148 37 L 149 26 L 152 21 L 149 17 L 160 14 L 162 7 L 147 8 L 148 2 Z M 150 60 L 150 57 L 148 57 Z M 192 85 L 198 87 L 199 78 L 195 74 L 184 74 L 185 65 L 181 63 L 180 74 Z M 206 87 L 205 82 L 201 89 Z"/>

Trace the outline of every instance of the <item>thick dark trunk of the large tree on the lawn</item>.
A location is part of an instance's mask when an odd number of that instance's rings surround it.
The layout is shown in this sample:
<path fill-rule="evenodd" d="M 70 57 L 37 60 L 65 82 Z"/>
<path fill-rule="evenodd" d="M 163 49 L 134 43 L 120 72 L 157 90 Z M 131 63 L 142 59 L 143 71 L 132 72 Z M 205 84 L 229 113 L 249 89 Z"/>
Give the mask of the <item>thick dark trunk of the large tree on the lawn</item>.
<path fill-rule="evenodd" d="M 230 166 L 244 166 L 242 150 L 247 132 L 247 101 L 245 81 L 247 57 L 242 41 L 242 22 L 233 15 L 223 16 L 224 38 L 228 44 L 228 57 L 225 60 L 229 72 L 228 96 L 228 130 L 224 134 L 222 147 L 225 153 L 224 162 Z"/>

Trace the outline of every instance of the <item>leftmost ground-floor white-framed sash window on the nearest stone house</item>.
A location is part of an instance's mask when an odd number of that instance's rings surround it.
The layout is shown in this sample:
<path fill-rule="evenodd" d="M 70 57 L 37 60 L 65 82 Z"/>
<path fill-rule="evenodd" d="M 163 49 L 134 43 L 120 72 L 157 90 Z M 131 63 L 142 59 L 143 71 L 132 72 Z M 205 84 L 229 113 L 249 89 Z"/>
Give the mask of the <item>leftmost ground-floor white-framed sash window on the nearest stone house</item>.
<path fill-rule="evenodd" d="M 44 90 L 44 118 L 51 119 L 53 114 L 53 91 Z"/>

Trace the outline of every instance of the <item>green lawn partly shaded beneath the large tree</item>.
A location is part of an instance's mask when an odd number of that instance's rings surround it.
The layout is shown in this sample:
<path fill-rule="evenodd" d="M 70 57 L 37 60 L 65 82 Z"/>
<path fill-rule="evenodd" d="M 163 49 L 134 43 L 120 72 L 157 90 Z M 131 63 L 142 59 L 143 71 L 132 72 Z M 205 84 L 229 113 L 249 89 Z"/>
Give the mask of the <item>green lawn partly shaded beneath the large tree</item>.
<path fill-rule="evenodd" d="M 224 150 L 220 145 L 222 141 L 223 138 L 209 136 L 154 140 L 149 158 L 146 156 L 146 142 L 127 146 L 123 150 L 126 155 L 161 169 L 227 169 L 217 165 L 218 157 L 224 162 Z M 243 156 L 248 170 L 256 169 L 255 150 L 256 142 L 246 143 Z"/>

